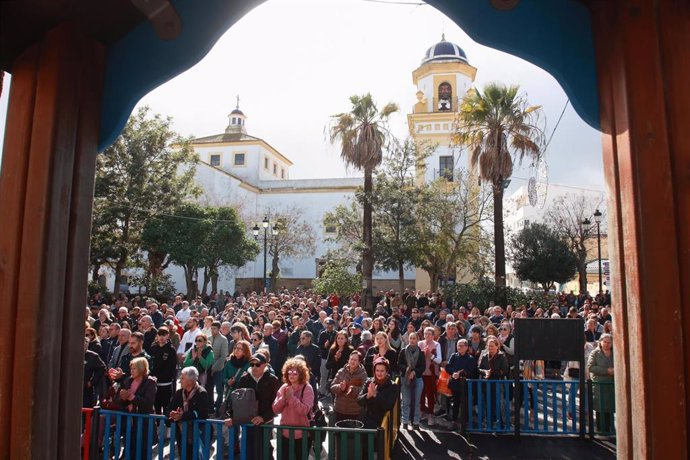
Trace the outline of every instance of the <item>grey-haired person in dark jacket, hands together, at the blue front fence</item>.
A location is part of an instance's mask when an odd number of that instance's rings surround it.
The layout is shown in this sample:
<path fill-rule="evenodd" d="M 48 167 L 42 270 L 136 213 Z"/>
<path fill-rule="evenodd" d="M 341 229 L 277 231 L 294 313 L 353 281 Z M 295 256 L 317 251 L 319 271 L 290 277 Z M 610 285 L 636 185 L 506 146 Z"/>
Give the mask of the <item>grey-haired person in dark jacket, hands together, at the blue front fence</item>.
<path fill-rule="evenodd" d="M 197 453 L 193 454 L 193 439 L 194 439 L 194 425 L 191 423 L 194 420 L 204 420 L 208 418 L 209 408 L 211 407 L 210 399 L 206 389 L 199 385 L 199 371 L 194 366 L 187 366 L 180 372 L 180 389 L 175 392 L 170 401 L 170 419 L 178 422 L 175 438 L 177 440 L 177 448 L 180 457 L 182 457 L 182 449 L 186 450 L 186 458 L 197 459 L 202 458 L 201 454 L 204 451 L 204 437 L 201 435 L 202 425 L 197 427 L 198 441 Z M 182 440 L 182 423 L 187 423 L 187 439 Z"/>

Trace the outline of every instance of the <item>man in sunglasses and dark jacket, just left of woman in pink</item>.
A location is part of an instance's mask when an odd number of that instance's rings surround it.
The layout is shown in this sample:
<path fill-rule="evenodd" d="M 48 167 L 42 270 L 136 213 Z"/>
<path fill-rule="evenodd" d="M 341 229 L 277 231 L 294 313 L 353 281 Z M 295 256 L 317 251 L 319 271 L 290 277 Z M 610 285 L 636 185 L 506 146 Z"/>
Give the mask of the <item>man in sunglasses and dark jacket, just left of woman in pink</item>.
<path fill-rule="evenodd" d="M 271 424 L 275 417 L 273 401 L 278 394 L 280 380 L 272 372 L 268 371 L 268 360 L 263 353 L 252 355 L 249 360 L 249 366 L 249 372 L 240 377 L 235 388 L 251 388 L 254 390 L 254 395 L 258 401 L 258 412 L 257 416 L 252 419 L 252 424 L 254 426 Z M 232 410 L 232 405 L 229 405 L 229 407 Z M 232 426 L 232 413 L 223 414 L 223 416 L 227 416 L 225 425 Z M 269 430 L 268 436 L 272 436 L 272 433 L 273 431 Z M 249 427 L 247 429 L 248 458 L 264 458 L 265 455 L 273 458 L 271 443 L 268 443 L 268 453 L 263 451 L 263 446 L 262 431 Z"/>

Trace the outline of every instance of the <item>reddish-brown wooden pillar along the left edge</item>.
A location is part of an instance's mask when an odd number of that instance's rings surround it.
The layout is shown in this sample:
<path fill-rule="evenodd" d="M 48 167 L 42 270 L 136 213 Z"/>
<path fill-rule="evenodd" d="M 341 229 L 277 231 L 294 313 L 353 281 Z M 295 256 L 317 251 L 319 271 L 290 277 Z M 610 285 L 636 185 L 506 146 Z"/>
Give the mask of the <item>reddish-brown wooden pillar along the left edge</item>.
<path fill-rule="evenodd" d="M 79 458 L 104 62 L 100 44 L 63 25 L 12 68 L 0 176 L 2 458 Z"/>

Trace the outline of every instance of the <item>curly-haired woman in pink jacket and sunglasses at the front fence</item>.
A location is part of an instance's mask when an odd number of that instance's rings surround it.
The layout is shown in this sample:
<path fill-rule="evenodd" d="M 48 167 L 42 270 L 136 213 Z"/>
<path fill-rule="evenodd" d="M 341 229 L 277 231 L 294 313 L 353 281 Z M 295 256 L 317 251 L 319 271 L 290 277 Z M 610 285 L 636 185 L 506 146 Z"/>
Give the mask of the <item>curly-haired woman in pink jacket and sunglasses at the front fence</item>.
<path fill-rule="evenodd" d="M 273 412 L 281 414 L 280 424 L 286 426 L 309 426 L 309 414 L 314 406 L 314 390 L 309 385 L 309 368 L 304 360 L 288 359 L 283 365 L 283 386 L 273 401 Z M 290 430 L 282 432 L 280 458 L 302 458 L 302 430 L 293 431 L 294 457 L 290 457 Z"/>

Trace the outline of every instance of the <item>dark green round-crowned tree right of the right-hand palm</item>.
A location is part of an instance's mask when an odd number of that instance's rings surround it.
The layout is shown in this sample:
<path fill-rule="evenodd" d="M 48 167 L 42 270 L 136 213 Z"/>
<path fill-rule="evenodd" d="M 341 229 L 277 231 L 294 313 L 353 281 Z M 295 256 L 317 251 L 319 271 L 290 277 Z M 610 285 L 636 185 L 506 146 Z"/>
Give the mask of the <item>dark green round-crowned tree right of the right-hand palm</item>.
<path fill-rule="evenodd" d="M 545 292 L 571 280 L 577 270 L 577 256 L 567 241 L 544 224 L 528 225 L 514 235 L 510 258 L 518 278 L 540 284 Z"/>

